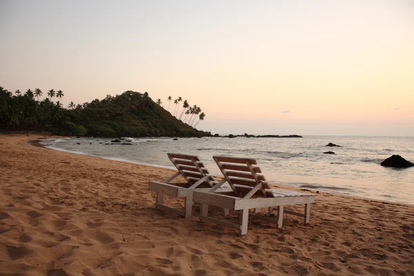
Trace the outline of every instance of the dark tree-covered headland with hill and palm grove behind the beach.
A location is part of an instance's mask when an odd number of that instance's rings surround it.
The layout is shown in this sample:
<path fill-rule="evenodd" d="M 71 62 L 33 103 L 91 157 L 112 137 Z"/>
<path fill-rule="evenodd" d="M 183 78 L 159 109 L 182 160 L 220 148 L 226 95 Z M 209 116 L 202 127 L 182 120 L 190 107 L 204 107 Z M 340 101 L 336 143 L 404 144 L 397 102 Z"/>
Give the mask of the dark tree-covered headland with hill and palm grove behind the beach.
<path fill-rule="evenodd" d="M 210 132 L 183 123 L 152 101 L 148 93 L 126 91 L 90 103 L 70 102 L 63 108 L 63 91 L 40 89 L 22 95 L 0 87 L 0 128 L 5 131 L 50 131 L 53 135 L 88 137 L 203 137 Z M 53 97 L 59 100 L 53 102 Z"/>

